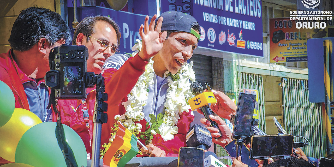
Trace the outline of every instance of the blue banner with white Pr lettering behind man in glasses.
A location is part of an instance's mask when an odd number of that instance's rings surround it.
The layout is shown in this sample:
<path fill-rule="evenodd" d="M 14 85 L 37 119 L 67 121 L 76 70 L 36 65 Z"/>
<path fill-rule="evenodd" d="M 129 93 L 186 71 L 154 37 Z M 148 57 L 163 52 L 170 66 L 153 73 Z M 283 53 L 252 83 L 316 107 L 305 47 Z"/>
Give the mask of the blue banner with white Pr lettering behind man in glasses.
<path fill-rule="evenodd" d="M 69 27 L 73 21 L 73 8 L 68 8 L 68 22 Z M 70 15 L 71 14 L 71 15 Z M 112 9 L 92 6 L 92 7 L 78 7 L 78 21 L 80 22 L 87 16 L 103 15 L 113 18 L 121 31 L 120 52 L 132 53 L 132 46 L 135 45 L 136 39 L 141 39 L 139 35 L 139 27 L 144 24 L 145 15 L 133 14 L 123 11 L 115 11 Z"/>

